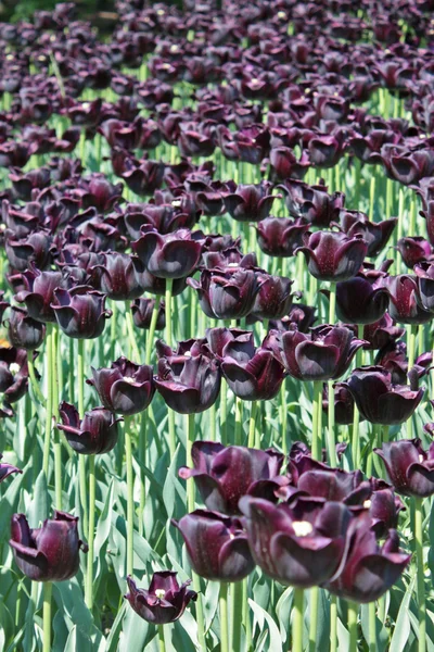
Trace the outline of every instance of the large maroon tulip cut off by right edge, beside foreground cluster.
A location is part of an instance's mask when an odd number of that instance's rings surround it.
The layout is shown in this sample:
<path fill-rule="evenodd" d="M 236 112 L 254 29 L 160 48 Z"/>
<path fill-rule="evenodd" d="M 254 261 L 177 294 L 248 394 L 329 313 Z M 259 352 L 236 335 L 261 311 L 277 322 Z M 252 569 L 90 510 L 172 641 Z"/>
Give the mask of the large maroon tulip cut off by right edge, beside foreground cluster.
<path fill-rule="evenodd" d="M 434 493 L 434 443 L 424 451 L 420 439 L 401 439 L 383 443 L 374 452 L 398 493 L 418 498 Z"/>

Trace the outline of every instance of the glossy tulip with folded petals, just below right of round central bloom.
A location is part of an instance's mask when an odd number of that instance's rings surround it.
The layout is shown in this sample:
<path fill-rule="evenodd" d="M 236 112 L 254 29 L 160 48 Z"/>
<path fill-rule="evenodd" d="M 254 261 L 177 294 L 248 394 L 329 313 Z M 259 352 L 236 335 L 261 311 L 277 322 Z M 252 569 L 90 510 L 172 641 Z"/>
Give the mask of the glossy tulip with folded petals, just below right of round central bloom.
<path fill-rule="evenodd" d="M 214 319 L 241 319 L 253 309 L 260 283 L 256 272 L 238 265 L 225 269 L 204 269 L 200 281 L 187 284 L 197 292 L 204 313 Z"/>

